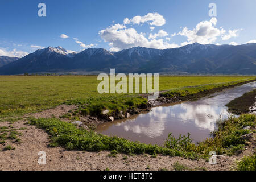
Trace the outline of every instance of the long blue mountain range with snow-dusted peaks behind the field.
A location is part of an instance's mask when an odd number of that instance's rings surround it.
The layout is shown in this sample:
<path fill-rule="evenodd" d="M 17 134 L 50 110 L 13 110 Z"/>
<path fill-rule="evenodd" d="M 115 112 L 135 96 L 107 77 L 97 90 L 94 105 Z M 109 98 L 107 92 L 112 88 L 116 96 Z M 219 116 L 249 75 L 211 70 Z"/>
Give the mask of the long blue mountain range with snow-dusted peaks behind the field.
<path fill-rule="evenodd" d="M 1 61 L 6 63 L 2 67 Z M 179 48 L 133 47 L 118 52 L 88 48 L 79 53 L 47 47 L 20 59 L 0 59 L 0 75 L 110 72 L 110 68 L 122 73 L 256 75 L 256 44 L 193 43 Z"/>

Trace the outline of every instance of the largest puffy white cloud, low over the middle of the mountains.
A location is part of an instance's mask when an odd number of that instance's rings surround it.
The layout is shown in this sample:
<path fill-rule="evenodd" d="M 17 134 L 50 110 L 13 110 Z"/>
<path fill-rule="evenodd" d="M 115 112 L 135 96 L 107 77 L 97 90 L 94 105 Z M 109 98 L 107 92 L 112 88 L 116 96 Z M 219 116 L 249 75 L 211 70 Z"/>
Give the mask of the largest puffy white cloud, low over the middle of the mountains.
<path fill-rule="evenodd" d="M 177 44 L 169 44 L 163 39 L 148 40 L 143 33 L 138 33 L 134 28 L 126 28 L 123 24 L 114 24 L 99 32 L 105 42 L 109 42 L 110 51 L 119 51 L 131 47 L 141 46 L 148 48 L 174 48 Z"/>

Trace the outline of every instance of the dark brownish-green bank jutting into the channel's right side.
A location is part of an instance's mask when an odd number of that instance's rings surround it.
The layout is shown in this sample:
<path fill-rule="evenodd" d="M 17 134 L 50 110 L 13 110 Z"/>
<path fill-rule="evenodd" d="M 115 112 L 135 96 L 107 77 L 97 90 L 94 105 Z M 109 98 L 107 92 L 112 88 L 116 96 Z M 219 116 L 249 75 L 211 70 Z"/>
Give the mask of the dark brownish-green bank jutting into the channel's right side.
<path fill-rule="evenodd" d="M 230 101 L 226 106 L 233 114 L 248 113 L 250 106 L 255 103 L 256 89 L 251 92 L 243 94 L 241 97 Z"/>

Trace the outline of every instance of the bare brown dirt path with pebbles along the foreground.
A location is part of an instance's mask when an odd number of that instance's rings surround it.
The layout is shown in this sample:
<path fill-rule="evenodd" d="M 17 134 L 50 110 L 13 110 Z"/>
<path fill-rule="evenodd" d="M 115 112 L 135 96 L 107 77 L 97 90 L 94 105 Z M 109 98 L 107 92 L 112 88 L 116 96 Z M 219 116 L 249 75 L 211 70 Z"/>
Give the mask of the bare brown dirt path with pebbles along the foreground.
<path fill-rule="evenodd" d="M 241 159 L 243 155 L 249 155 L 255 152 L 255 134 L 251 139 L 247 150 L 238 156 L 218 156 L 217 164 L 210 165 L 205 160 L 200 159 L 192 161 L 180 157 L 169 157 L 158 155 L 156 158 L 151 156 L 127 156 L 118 154 L 117 157 L 108 157 L 110 152 L 83 152 L 83 151 L 67 151 L 62 147 L 48 147 L 48 134 L 37 129 L 35 126 L 25 124 L 26 121 L 18 121 L 12 124 L 14 128 L 26 127 L 26 130 L 20 131 L 22 136 L 21 143 L 12 142 L 7 139 L 7 144 L 0 144 L 0 170 L 146 170 L 147 166 L 150 170 L 159 170 L 166 168 L 173 170 L 172 164 L 179 162 L 191 169 L 207 169 L 207 170 L 230 170 L 237 159 Z M 8 122 L 1 122 L 0 127 L 10 126 Z M 2 151 L 3 147 L 11 144 L 15 150 Z M 38 152 L 46 152 L 46 165 L 38 164 Z M 123 159 L 127 156 L 127 159 Z"/>

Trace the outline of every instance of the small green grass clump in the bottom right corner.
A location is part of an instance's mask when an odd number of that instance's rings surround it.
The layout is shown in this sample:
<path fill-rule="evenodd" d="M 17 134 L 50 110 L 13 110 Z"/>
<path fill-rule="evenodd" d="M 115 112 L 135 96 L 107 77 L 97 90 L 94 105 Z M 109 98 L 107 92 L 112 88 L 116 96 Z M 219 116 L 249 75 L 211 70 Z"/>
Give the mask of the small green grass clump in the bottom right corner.
<path fill-rule="evenodd" d="M 256 154 L 245 156 L 237 162 L 237 171 L 256 171 Z"/>

